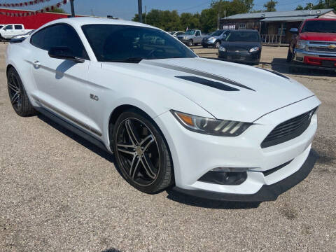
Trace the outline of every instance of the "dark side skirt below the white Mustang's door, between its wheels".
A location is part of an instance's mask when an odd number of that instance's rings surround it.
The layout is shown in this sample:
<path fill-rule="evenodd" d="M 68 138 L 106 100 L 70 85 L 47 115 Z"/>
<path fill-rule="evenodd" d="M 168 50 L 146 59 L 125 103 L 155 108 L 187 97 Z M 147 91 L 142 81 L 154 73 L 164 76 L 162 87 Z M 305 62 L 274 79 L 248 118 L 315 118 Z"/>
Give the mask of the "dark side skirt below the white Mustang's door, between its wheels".
<path fill-rule="evenodd" d="M 43 116 L 46 116 L 55 123 L 61 125 L 62 127 L 65 127 L 67 130 L 70 130 L 71 132 L 82 137 L 83 139 L 90 141 L 91 144 L 94 144 L 95 146 L 101 148 L 103 151 L 111 153 L 101 140 L 93 137 L 91 134 L 87 132 L 84 132 L 73 123 L 70 123 L 69 121 L 64 120 L 63 118 L 60 118 L 59 116 L 55 115 L 55 113 L 52 113 L 52 111 L 48 111 L 47 109 L 43 109 L 41 107 L 34 107 L 34 109 L 36 109 L 36 111 L 40 112 L 41 114 L 43 114 Z"/>

